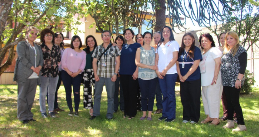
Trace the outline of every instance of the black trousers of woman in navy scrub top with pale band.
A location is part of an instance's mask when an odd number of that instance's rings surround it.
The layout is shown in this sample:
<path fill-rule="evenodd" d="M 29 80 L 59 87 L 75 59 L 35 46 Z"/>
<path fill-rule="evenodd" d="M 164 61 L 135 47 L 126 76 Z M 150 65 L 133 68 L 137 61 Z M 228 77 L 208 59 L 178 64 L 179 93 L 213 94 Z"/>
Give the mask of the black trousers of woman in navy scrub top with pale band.
<path fill-rule="evenodd" d="M 180 82 L 182 119 L 198 122 L 200 118 L 201 79 Z"/>

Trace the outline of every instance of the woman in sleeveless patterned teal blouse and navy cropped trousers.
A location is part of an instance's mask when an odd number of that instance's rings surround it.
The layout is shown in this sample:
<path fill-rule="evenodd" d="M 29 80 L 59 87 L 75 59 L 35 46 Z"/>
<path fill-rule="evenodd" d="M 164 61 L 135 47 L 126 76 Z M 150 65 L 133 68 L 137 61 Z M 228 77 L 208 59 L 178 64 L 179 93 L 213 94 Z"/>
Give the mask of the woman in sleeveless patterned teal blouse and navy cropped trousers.
<path fill-rule="evenodd" d="M 138 68 L 138 83 L 141 91 L 141 105 L 143 115 L 140 120 L 152 120 L 151 114 L 154 106 L 155 88 L 158 81 L 155 70 L 155 48 L 150 46 L 152 41 L 152 33 L 145 32 L 143 35 L 144 45 L 139 47 L 136 52 L 136 65 Z"/>

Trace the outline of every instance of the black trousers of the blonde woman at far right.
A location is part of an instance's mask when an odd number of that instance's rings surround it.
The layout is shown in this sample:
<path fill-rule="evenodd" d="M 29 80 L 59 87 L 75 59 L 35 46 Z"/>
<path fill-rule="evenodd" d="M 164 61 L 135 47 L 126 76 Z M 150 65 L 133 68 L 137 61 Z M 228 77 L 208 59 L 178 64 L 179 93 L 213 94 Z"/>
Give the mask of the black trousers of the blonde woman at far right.
<path fill-rule="evenodd" d="M 239 103 L 241 88 L 223 86 L 223 91 L 227 98 L 227 119 L 233 120 L 235 111 L 237 114 L 237 124 L 244 125 L 243 111 Z"/>

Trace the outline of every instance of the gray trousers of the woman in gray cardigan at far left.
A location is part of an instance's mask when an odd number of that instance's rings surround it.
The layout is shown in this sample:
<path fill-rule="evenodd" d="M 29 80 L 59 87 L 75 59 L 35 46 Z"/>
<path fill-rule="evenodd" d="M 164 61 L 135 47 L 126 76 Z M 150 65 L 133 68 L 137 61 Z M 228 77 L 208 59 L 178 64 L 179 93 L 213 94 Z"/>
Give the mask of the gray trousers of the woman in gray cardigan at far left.
<path fill-rule="evenodd" d="M 38 79 L 27 79 L 22 85 L 18 83 L 17 117 L 20 121 L 32 119 L 31 112 L 34 101 Z"/>

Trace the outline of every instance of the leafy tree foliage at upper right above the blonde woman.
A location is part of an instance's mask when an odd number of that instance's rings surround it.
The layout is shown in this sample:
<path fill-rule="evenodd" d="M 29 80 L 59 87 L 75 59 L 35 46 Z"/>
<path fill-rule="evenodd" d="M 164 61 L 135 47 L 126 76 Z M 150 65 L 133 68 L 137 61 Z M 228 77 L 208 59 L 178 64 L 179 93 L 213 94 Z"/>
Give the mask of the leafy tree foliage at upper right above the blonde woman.
<path fill-rule="evenodd" d="M 221 32 L 235 31 L 240 40 L 240 45 L 246 50 L 259 40 L 259 7 L 252 5 L 249 0 L 232 0 L 233 11 L 222 16 L 222 20 L 212 31 L 216 35 Z M 219 41 L 219 38 L 218 38 Z"/>

